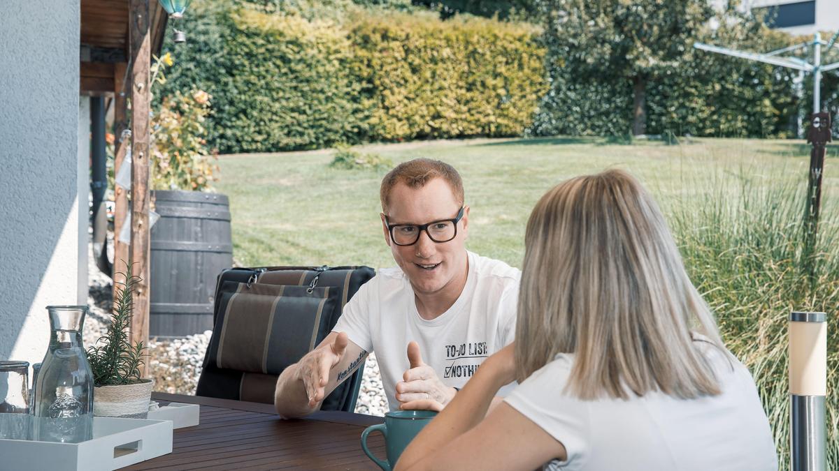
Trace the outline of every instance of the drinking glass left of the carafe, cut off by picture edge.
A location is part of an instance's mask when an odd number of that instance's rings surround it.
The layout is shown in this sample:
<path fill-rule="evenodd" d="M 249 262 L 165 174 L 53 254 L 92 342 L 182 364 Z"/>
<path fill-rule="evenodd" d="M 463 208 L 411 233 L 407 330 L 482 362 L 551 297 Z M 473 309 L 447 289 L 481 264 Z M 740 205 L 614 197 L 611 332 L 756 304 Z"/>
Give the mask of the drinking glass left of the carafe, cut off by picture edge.
<path fill-rule="evenodd" d="M 0 361 L 0 438 L 29 437 L 29 362 Z"/>

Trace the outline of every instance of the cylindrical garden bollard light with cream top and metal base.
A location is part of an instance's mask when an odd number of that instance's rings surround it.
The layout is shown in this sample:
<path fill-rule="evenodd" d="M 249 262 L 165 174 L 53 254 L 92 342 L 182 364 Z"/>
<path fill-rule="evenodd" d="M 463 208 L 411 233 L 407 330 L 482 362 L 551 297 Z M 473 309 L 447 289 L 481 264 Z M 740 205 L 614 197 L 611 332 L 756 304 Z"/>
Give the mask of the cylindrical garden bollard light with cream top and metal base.
<path fill-rule="evenodd" d="M 827 315 L 789 314 L 792 471 L 827 470 Z"/>

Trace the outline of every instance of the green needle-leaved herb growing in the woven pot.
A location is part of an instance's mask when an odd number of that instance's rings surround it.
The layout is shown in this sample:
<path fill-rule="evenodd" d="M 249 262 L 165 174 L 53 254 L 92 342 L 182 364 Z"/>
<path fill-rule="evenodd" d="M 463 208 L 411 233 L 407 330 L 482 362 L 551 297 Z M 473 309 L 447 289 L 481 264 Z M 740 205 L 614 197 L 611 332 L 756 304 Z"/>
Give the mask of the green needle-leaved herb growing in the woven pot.
<path fill-rule="evenodd" d="M 140 277 L 131 272 L 127 266 L 125 282 L 117 282 L 117 292 L 113 302 L 111 325 L 106 334 L 102 335 L 96 344 L 87 349 L 87 361 L 93 371 L 93 382 L 96 387 L 132 385 L 143 382 L 140 366 L 143 365 L 143 355 L 146 348 L 143 342 L 131 344 L 128 339 L 133 318 L 133 292 L 136 290 Z"/>

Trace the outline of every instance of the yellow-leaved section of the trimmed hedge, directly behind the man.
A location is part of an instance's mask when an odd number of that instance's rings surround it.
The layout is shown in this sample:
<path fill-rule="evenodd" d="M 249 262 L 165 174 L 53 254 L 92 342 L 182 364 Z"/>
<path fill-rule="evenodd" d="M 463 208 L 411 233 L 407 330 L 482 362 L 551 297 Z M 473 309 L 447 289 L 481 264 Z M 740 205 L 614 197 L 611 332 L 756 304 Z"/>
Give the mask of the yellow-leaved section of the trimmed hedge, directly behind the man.
<path fill-rule="evenodd" d="M 350 30 L 373 139 L 517 136 L 544 93 L 544 50 L 523 23 L 362 18 Z"/>

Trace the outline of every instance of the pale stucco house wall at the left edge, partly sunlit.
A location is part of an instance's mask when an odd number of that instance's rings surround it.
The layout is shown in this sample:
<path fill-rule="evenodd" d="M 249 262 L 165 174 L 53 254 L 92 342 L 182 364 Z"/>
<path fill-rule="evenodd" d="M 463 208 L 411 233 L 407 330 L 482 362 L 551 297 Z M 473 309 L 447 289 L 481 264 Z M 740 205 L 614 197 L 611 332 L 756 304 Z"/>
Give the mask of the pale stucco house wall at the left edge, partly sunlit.
<path fill-rule="evenodd" d="M 44 307 L 86 303 L 79 3 L 0 1 L 0 360 L 40 361 Z"/>

